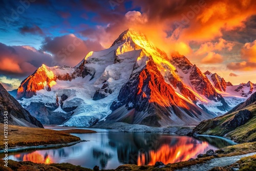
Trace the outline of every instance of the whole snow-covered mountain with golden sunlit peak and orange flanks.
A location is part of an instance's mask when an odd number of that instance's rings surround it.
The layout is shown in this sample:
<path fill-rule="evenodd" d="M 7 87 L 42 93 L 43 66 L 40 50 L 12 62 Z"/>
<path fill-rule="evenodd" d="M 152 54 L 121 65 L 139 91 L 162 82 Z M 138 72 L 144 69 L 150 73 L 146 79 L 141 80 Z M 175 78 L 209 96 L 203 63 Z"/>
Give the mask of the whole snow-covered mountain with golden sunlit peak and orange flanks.
<path fill-rule="evenodd" d="M 124 31 L 109 49 L 88 53 L 74 68 L 42 65 L 21 83 L 16 97 L 45 124 L 58 115 L 68 126 L 90 126 L 114 115 L 154 126 L 197 123 L 227 112 L 232 101 L 185 56 L 169 59 L 134 30 Z"/>

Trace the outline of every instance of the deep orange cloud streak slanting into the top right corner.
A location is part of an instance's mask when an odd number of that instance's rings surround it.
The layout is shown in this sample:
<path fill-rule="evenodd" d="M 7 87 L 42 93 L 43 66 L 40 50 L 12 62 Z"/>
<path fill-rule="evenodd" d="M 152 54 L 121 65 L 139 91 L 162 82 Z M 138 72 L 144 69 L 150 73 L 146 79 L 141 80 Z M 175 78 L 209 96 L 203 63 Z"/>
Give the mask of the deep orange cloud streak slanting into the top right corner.
<path fill-rule="evenodd" d="M 255 1 L 205 1 L 205 8 L 191 19 L 188 28 L 184 29 L 182 39 L 197 41 L 211 40 L 222 36 L 222 31 L 244 28 L 248 17 L 256 13 Z"/>

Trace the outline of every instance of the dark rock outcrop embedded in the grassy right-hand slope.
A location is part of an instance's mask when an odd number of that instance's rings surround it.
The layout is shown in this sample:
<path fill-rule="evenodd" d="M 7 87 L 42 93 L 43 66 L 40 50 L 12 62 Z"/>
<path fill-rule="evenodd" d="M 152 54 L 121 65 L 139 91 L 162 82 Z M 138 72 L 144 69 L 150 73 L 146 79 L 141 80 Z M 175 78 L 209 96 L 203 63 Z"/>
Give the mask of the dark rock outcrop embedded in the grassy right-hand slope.
<path fill-rule="evenodd" d="M 234 130 L 237 127 L 245 124 L 248 120 L 252 118 L 252 114 L 248 110 L 239 111 L 238 114 L 234 115 L 234 118 L 222 123 L 222 127 L 227 130 Z"/>

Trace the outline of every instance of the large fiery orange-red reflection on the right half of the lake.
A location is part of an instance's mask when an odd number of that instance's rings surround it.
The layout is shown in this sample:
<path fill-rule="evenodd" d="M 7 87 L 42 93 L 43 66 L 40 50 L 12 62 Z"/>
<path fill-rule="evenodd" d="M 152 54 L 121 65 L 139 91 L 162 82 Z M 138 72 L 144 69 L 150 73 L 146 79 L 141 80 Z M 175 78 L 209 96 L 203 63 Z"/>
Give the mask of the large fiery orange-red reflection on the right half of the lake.
<path fill-rule="evenodd" d="M 149 159 L 147 161 L 145 160 L 146 154 L 139 153 L 137 162 L 138 165 L 154 165 L 157 161 L 162 161 L 164 164 L 187 161 L 190 158 L 196 158 L 208 146 L 207 142 L 196 145 L 194 143 L 187 144 L 187 142 L 180 140 L 175 145 L 163 144 L 156 151 L 151 150 L 148 153 Z"/>

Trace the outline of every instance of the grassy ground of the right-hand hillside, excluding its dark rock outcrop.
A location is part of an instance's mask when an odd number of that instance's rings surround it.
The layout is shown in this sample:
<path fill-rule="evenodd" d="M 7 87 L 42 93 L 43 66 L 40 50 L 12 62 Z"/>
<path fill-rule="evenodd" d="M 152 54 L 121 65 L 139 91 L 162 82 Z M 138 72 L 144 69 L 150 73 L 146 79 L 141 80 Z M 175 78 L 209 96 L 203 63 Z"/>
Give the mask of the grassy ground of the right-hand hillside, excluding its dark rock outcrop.
<path fill-rule="evenodd" d="M 220 116 L 214 119 L 201 122 L 195 132 L 199 134 L 226 136 L 236 142 L 252 142 L 256 140 L 256 104 L 251 104 L 243 110 L 249 110 L 252 113 L 252 119 L 246 124 L 237 127 L 235 130 L 225 130 L 221 127 L 222 123 L 234 117 L 239 111 L 228 115 Z"/>

